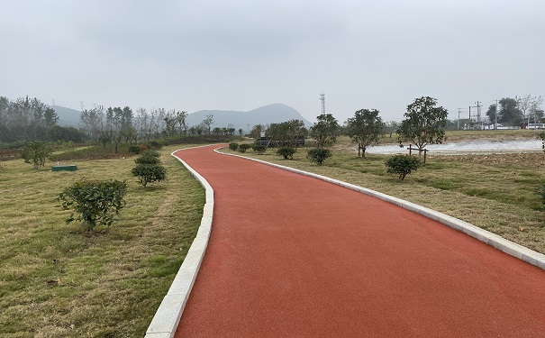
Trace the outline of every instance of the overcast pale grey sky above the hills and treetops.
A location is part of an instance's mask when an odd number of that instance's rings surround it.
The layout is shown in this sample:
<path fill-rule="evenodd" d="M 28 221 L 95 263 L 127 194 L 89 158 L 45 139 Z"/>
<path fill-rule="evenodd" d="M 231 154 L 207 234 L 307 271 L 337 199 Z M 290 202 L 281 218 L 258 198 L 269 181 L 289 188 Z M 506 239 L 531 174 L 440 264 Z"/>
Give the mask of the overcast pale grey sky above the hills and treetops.
<path fill-rule="evenodd" d="M 543 0 L 0 0 L 0 96 L 311 122 L 545 96 Z M 486 111 L 486 108 L 483 111 Z M 462 117 L 464 116 L 462 115 Z"/>

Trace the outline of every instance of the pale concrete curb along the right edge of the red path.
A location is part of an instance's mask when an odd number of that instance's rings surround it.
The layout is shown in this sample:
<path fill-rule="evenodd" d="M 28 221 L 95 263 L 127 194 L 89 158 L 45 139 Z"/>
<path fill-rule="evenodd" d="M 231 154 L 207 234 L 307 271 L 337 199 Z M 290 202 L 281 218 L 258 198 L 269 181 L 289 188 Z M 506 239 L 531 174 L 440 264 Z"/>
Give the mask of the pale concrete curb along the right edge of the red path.
<path fill-rule="evenodd" d="M 438 221 L 441 224 L 445 224 L 447 226 L 450 226 L 451 228 L 456 229 L 459 232 L 468 234 L 469 236 L 477 239 L 480 242 L 485 242 L 486 244 L 495 247 L 495 249 L 498 249 L 500 251 L 504 251 L 505 253 L 510 254 L 511 256 L 516 257 L 519 260 L 524 260 L 524 261 L 530 263 L 531 265 L 535 265 L 536 267 L 539 267 L 540 269 L 545 269 L 545 255 L 544 254 L 542 254 L 540 252 L 537 252 L 537 251 L 530 250 L 530 249 L 528 249 L 528 248 L 526 248 L 526 247 L 524 247 L 524 246 L 522 246 L 520 244 L 517 244 L 515 242 L 511 242 L 509 240 L 506 240 L 503 237 L 501 237 L 501 236 L 499 236 L 499 235 L 497 235 L 495 233 L 490 233 L 490 232 L 488 232 L 488 231 L 486 231 L 484 229 L 481 229 L 481 228 L 479 228 L 479 227 L 477 227 L 477 226 L 475 226 L 473 224 L 469 224 L 467 222 L 464 222 L 464 221 L 462 221 L 462 220 L 460 220 L 458 218 L 452 217 L 450 215 L 445 215 L 445 214 L 442 214 L 442 213 L 440 213 L 438 211 L 431 210 L 431 209 L 429 209 L 427 207 L 419 206 L 419 205 L 416 205 L 414 203 L 405 201 L 404 199 L 397 198 L 397 197 L 394 197 L 394 196 L 389 196 L 389 195 L 380 193 L 378 191 L 368 189 L 366 187 L 359 187 L 359 186 L 356 186 L 356 185 L 353 185 L 353 184 L 350 184 L 350 183 L 347 183 L 347 182 L 343 182 L 343 181 L 341 181 L 339 179 L 328 178 L 328 177 L 325 177 L 325 176 L 322 176 L 322 175 L 313 174 L 312 172 L 308 172 L 308 171 L 304 171 L 304 170 L 300 170 L 300 169 L 289 168 L 289 167 L 281 166 L 279 164 L 270 163 L 270 162 L 267 162 L 267 161 L 264 161 L 264 160 L 256 160 L 256 159 L 251 159 L 251 158 L 244 157 L 244 156 L 241 156 L 241 155 L 235 155 L 235 154 L 220 152 L 220 151 L 218 151 L 218 149 L 216 149 L 214 151 L 217 152 L 217 153 L 223 154 L 223 155 L 239 157 L 241 159 L 246 159 L 246 160 L 254 160 L 254 161 L 259 162 L 259 163 L 267 164 L 269 166 L 276 167 L 276 168 L 279 168 L 279 169 L 285 169 L 285 170 L 292 171 L 292 172 L 295 172 L 295 173 L 298 173 L 298 174 L 301 174 L 301 175 L 310 176 L 312 178 L 319 178 L 319 179 L 322 179 L 324 181 L 339 185 L 341 187 L 348 187 L 349 189 L 359 191 L 360 193 L 363 193 L 363 194 L 366 194 L 366 195 L 369 195 L 369 196 L 377 197 L 379 199 L 382 199 L 383 201 L 393 203 L 396 206 L 401 206 L 404 209 L 413 211 L 416 214 L 426 216 L 428 218 L 431 218 L 432 220 Z"/>

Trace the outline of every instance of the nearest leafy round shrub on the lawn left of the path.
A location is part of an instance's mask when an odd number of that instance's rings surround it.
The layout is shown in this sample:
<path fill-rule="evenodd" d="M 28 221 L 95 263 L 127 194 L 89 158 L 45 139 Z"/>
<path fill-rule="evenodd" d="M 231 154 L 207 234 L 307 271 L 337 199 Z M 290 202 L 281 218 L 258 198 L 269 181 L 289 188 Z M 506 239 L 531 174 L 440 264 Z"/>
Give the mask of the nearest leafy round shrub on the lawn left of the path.
<path fill-rule="evenodd" d="M 115 179 L 82 180 L 66 187 L 59 194 L 63 210 L 73 209 L 67 224 L 80 221 L 86 232 L 92 233 L 97 225 L 111 226 L 116 215 L 125 206 L 124 196 L 127 185 Z"/>

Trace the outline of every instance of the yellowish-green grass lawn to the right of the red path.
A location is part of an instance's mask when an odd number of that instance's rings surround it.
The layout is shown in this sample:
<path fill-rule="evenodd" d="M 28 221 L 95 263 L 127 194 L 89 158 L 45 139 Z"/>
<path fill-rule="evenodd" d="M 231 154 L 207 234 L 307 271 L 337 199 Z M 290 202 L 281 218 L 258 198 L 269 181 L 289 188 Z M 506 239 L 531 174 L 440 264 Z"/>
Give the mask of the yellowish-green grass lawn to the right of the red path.
<path fill-rule="evenodd" d="M 498 134 L 504 134 L 504 131 L 498 131 Z M 530 133 L 524 131 L 522 135 L 527 137 Z M 507 137 L 513 139 L 512 136 Z M 268 149 L 263 155 L 251 150 L 245 154 L 223 151 L 303 169 L 400 197 L 545 253 L 545 215 L 540 196 L 535 193 L 545 181 L 543 152 L 430 156 L 425 167 L 402 181 L 397 175 L 386 173 L 385 162 L 391 155 L 368 154 L 368 159 L 364 160 L 357 157 L 354 147 L 341 138 L 332 149 L 332 158 L 325 160 L 322 166 L 306 160 L 305 149 L 299 149 L 294 160 L 284 160 L 276 154 L 276 149 Z"/>

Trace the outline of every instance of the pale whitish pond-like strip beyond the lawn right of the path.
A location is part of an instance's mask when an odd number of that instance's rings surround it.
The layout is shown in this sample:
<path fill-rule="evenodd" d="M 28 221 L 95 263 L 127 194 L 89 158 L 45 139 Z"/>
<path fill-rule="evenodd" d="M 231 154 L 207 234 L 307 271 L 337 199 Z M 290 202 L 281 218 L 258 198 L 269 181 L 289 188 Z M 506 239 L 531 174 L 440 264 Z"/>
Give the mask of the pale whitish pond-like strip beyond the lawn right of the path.
<path fill-rule="evenodd" d="M 426 149 L 431 155 L 542 151 L 539 140 L 449 142 L 430 144 L 426 146 Z M 367 152 L 375 154 L 409 153 L 406 147 L 400 148 L 398 145 L 372 146 L 368 147 Z"/>

